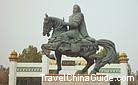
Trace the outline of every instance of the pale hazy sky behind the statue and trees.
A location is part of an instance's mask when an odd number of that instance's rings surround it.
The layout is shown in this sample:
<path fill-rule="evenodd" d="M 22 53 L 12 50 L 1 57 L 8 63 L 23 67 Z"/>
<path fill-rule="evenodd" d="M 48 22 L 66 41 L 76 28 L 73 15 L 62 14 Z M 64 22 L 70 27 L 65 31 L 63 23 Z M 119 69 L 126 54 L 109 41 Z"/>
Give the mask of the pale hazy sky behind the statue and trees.
<path fill-rule="evenodd" d="M 40 50 L 44 14 L 65 17 L 79 4 L 88 33 L 96 39 L 109 39 L 118 52 L 126 52 L 133 71 L 138 70 L 138 0 L 1 0 L 0 64 L 8 66 L 10 52 L 28 45 Z"/>

